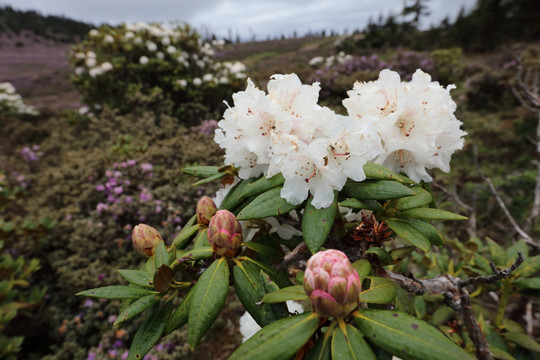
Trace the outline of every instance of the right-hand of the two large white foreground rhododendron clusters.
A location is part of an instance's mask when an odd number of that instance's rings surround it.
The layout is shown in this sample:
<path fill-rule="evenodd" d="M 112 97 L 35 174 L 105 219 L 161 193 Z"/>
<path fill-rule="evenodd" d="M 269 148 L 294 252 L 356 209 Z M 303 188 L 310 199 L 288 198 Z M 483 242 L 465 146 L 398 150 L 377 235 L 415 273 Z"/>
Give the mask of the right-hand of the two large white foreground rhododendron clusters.
<path fill-rule="evenodd" d="M 466 135 L 454 115 L 453 88 L 432 82 L 421 70 L 410 82 L 383 70 L 377 81 L 357 82 L 343 105 L 355 121 L 375 124 L 384 147 L 375 162 L 415 181 L 431 181 L 427 169 L 448 172 L 450 157 Z"/>

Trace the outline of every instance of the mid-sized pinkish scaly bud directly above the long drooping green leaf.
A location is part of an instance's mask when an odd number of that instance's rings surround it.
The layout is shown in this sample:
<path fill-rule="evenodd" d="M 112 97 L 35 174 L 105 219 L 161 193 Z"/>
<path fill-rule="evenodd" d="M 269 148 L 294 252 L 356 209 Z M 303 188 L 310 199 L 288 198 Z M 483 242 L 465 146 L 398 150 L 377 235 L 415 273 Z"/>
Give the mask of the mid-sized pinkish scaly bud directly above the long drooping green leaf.
<path fill-rule="evenodd" d="M 219 210 L 208 225 L 208 241 L 214 253 L 233 257 L 242 244 L 242 227 L 228 210 Z"/>

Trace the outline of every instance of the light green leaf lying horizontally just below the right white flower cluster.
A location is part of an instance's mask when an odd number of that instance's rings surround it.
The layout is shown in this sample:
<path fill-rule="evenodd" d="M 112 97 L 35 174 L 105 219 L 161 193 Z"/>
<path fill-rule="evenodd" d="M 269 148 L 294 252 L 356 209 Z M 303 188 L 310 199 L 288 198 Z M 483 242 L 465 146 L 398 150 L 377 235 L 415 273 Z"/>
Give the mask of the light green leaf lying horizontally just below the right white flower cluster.
<path fill-rule="evenodd" d="M 409 187 L 390 180 L 365 180 L 347 183 L 340 193 L 358 200 L 389 200 L 414 195 Z"/>

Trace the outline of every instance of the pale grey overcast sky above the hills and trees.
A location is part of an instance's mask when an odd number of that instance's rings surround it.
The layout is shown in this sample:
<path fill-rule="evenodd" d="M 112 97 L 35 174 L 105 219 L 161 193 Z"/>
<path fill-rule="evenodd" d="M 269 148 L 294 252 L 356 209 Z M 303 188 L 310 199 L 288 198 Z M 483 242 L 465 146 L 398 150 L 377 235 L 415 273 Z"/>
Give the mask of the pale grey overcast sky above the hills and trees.
<path fill-rule="evenodd" d="M 351 31 L 365 27 L 369 18 L 398 14 L 404 0 L 0 0 L 19 10 L 63 15 L 96 25 L 136 21 L 185 21 L 203 33 L 259 40 L 296 31 Z M 411 2 L 411 1 L 409 1 Z M 454 19 L 460 8 L 475 0 L 430 0 L 431 15 L 424 26 Z"/>

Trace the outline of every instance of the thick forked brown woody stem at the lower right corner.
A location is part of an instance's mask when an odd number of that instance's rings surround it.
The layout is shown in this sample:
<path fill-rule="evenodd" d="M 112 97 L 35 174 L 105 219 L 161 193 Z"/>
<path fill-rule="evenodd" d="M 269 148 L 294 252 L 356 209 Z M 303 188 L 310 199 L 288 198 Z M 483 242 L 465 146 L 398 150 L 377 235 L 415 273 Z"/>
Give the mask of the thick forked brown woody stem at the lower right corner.
<path fill-rule="evenodd" d="M 485 335 L 482 333 L 480 326 L 476 322 L 476 318 L 472 311 L 471 299 L 466 287 L 469 285 L 491 283 L 504 279 L 508 277 L 512 271 L 516 270 L 523 263 L 523 260 L 523 254 L 518 252 L 516 261 L 508 269 L 497 270 L 495 265 L 491 263 L 490 266 L 494 273 L 493 275 L 477 276 L 468 280 L 461 280 L 460 278 L 448 274 L 427 280 L 417 280 L 390 271 L 387 272 L 387 274 L 391 280 L 410 293 L 417 295 L 424 293 L 442 294 L 444 296 L 445 304 L 461 315 L 467 332 L 474 343 L 476 357 L 481 360 L 491 360 L 493 359 L 493 355 L 489 350 Z"/>

